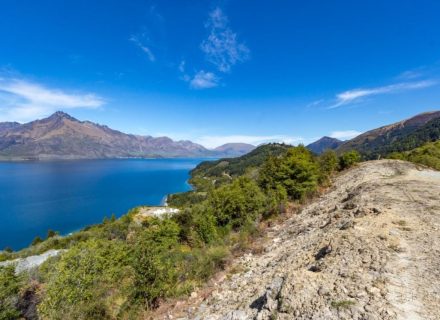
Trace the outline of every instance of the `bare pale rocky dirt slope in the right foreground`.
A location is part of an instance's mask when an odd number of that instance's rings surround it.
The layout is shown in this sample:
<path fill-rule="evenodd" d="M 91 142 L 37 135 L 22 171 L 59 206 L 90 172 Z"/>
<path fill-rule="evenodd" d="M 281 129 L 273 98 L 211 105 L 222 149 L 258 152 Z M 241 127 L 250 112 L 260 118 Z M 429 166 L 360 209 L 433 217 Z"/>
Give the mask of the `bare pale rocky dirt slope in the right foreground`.
<path fill-rule="evenodd" d="M 174 318 L 440 319 L 440 172 L 362 163 L 263 246 Z"/>

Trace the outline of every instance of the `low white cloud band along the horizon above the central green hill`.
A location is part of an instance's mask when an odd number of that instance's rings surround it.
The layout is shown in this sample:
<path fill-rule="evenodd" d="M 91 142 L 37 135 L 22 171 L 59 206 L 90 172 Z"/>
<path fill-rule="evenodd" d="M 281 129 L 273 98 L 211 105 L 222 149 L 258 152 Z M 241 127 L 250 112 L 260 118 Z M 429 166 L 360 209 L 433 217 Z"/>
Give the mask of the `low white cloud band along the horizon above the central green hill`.
<path fill-rule="evenodd" d="M 269 142 L 284 142 L 287 144 L 298 144 L 298 143 L 303 143 L 304 139 L 301 137 L 290 137 L 285 135 L 272 135 L 272 136 L 230 135 L 230 136 L 202 136 L 195 138 L 194 142 L 199 143 L 207 148 L 216 148 L 225 143 L 232 143 L 232 142 L 249 143 L 255 146 Z"/>

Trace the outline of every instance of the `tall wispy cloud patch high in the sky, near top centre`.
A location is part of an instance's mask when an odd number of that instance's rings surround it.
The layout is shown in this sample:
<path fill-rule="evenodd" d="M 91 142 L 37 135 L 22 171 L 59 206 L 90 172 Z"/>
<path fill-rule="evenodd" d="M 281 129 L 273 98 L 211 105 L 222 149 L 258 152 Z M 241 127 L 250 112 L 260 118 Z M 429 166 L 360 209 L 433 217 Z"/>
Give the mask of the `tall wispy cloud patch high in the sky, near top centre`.
<path fill-rule="evenodd" d="M 237 34 L 228 24 L 223 11 L 220 8 L 214 9 L 206 23 L 206 28 L 210 30 L 208 39 L 200 46 L 206 59 L 220 72 L 229 72 L 232 66 L 249 58 L 249 49 L 238 41 Z"/>

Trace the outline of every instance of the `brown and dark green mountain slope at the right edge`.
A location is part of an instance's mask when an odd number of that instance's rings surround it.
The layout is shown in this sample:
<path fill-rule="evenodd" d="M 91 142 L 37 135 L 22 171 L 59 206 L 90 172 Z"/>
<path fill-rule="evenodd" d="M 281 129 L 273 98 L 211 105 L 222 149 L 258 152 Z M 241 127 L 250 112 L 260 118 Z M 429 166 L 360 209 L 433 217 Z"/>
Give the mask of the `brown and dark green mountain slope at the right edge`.
<path fill-rule="evenodd" d="M 425 112 L 365 132 L 343 143 L 337 152 L 359 151 L 366 159 L 376 159 L 395 151 L 407 151 L 440 139 L 440 111 Z"/>

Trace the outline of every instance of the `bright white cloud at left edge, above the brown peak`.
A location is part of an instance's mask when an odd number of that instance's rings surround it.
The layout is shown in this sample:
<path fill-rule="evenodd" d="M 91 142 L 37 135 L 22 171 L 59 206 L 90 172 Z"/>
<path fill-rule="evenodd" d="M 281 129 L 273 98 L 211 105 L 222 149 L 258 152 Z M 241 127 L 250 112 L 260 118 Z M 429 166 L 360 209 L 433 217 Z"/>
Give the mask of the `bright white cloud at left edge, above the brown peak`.
<path fill-rule="evenodd" d="M 98 108 L 103 98 L 66 93 L 23 79 L 0 78 L 0 121 L 29 121 L 60 109 Z"/>

